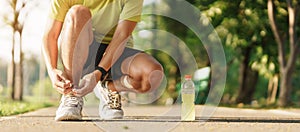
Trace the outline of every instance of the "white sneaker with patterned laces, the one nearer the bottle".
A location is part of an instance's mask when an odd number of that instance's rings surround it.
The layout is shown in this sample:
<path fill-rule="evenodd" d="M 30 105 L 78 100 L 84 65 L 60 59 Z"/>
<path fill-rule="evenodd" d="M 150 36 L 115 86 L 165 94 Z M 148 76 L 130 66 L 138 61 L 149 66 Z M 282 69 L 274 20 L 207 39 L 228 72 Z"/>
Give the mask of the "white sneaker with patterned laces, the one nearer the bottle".
<path fill-rule="evenodd" d="M 99 98 L 99 116 L 101 119 L 120 119 L 123 118 L 121 96 L 118 92 L 112 92 L 100 83 L 94 89 Z"/>

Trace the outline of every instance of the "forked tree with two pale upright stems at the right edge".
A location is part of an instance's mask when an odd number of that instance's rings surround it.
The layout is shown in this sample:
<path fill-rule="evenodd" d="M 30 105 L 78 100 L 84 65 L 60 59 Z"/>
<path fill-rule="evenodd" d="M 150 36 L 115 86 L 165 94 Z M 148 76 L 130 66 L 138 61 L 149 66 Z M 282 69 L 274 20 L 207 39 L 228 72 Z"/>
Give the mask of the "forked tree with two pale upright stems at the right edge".
<path fill-rule="evenodd" d="M 278 0 L 268 0 L 267 5 L 269 22 L 278 47 L 278 61 L 280 65 L 279 106 L 287 106 L 291 103 L 290 98 L 293 90 L 292 74 L 295 71 L 296 59 L 300 52 L 299 31 L 297 32 L 296 28 L 299 25 L 299 4 L 296 0 L 286 0 L 285 3 Z M 275 7 L 278 10 L 275 10 Z M 281 23 L 280 20 L 286 18 L 288 20 L 288 32 L 285 31 L 284 25 L 279 25 Z"/>

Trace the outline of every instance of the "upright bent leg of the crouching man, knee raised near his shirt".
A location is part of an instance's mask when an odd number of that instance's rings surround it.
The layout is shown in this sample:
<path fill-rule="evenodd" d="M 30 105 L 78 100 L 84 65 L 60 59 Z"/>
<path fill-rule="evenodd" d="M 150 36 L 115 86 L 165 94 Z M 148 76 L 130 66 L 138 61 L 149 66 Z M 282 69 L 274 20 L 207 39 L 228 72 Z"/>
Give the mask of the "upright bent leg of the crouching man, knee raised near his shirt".
<path fill-rule="evenodd" d="M 88 8 L 76 5 L 68 11 L 60 38 L 64 70 L 76 87 L 93 40 L 91 13 Z"/>

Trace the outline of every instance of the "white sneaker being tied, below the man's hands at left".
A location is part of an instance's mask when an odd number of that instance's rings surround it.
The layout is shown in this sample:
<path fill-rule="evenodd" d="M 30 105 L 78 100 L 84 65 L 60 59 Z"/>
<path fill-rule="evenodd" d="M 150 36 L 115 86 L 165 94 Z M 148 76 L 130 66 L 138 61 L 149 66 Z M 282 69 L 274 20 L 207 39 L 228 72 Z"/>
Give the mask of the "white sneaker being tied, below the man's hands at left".
<path fill-rule="evenodd" d="M 56 121 L 80 120 L 82 118 L 82 97 L 63 95 L 56 111 Z"/>

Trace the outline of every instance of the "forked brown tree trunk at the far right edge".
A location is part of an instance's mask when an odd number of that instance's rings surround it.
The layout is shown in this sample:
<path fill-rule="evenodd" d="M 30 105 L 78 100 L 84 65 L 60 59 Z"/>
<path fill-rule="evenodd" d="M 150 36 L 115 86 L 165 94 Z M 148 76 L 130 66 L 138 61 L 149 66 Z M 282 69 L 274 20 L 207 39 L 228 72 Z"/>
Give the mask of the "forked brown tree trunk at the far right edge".
<path fill-rule="evenodd" d="M 279 100 L 278 105 L 285 107 L 291 103 L 291 91 L 292 91 L 292 73 L 295 70 L 295 62 L 300 52 L 300 46 L 298 35 L 296 33 L 296 25 L 298 21 L 299 10 L 296 9 L 297 3 L 294 3 L 291 0 L 286 0 L 287 4 L 287 11 L 288 11 L 288 34 L 281 34 L 286 33 L 284 30 L 279 30 L 276 20 L 275 20 L 275 11 L 274 9 L 274 1 L 268 0 L 268 16 L 269 22 L 278 45 L 278 60 L 280 64 L 280 93 L 279 93 Z M 284 31 L 284 32 L 283 32 Z M 289 43 L 284 43 L 284 38 L 282 36 L 288 36 Z M 287 50 L 285 45 L 289 44 L 289 49 Z M 287 53 L 290 51 L 290 53 Z"/>

